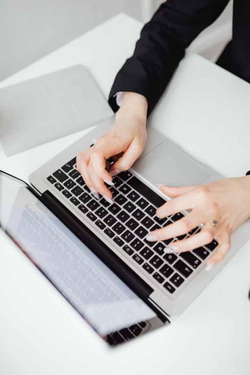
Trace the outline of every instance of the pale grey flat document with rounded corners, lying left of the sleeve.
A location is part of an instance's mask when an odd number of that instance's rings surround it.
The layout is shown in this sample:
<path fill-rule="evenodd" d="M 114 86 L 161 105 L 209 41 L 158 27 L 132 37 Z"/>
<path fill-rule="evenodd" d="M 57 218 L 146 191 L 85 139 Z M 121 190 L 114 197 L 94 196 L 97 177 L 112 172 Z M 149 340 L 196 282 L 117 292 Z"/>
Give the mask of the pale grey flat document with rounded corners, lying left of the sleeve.
<path fill-rule="evenodd" d="M 0 89 L 0 142 L 12 156 L 112 114 L 87 69 L 75 65 Z"/>

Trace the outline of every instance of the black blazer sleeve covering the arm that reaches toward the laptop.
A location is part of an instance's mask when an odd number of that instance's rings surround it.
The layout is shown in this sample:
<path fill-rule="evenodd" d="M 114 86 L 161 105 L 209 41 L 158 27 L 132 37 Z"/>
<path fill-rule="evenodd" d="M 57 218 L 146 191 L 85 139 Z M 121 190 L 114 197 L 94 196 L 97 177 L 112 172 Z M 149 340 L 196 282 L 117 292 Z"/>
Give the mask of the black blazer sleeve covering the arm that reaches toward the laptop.
<path fill-rule="evenodd" d="M 215 21 L 229 0 L 167 0 L 141 31 L 132 57 L 118 72 L 109 94 L 114 112 L 119 107 L 113 96 L 119 91 L 144 95 L 147 115 L 163 94 L 185 49 Z"/>

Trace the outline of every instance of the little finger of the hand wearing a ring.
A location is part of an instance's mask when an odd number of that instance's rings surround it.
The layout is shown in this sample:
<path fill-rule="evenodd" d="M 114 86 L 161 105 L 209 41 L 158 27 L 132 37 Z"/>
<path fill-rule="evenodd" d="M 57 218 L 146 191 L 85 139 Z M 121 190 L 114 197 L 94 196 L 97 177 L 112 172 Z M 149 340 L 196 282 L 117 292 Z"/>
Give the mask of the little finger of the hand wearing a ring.
<path fill-rule="evenodd" d="M 217 231 L 216 236 L 218 238 L 219 246 L 216 252 L 208 259 L 207 271 L 210 271 L 216 264 L 220 263 L 231 248 L 230 237 L 231 233 L 228 229 L 220 228 Z"/>

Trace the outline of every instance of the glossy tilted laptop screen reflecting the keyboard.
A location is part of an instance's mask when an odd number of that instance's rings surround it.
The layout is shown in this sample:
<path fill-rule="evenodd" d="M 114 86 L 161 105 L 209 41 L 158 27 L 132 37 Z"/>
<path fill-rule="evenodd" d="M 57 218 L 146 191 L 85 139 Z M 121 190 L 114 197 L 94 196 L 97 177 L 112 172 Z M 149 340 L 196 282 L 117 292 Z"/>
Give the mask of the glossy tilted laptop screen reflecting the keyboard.
<path fill-rule="evenodd" d="M 3 172 L 0 227 L 108 344 L 163 325 L 23 182 Z"/>

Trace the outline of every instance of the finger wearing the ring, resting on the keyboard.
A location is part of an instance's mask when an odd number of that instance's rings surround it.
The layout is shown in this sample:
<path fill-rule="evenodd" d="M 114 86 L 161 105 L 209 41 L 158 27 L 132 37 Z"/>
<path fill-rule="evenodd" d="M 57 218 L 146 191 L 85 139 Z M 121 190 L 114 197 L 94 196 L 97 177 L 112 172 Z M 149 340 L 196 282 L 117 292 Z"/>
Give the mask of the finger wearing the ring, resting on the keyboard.
<path fill-rule="evenodd" d="M 188 236 L 181 241 L 172 242 L 164 251 L 168 254 L 172 252 L 185 252 L 207 245 L 213 240 L 216 229 L 217 228 L 213 227 L 210 223 L 206 223 L 199 233 Z"/>

